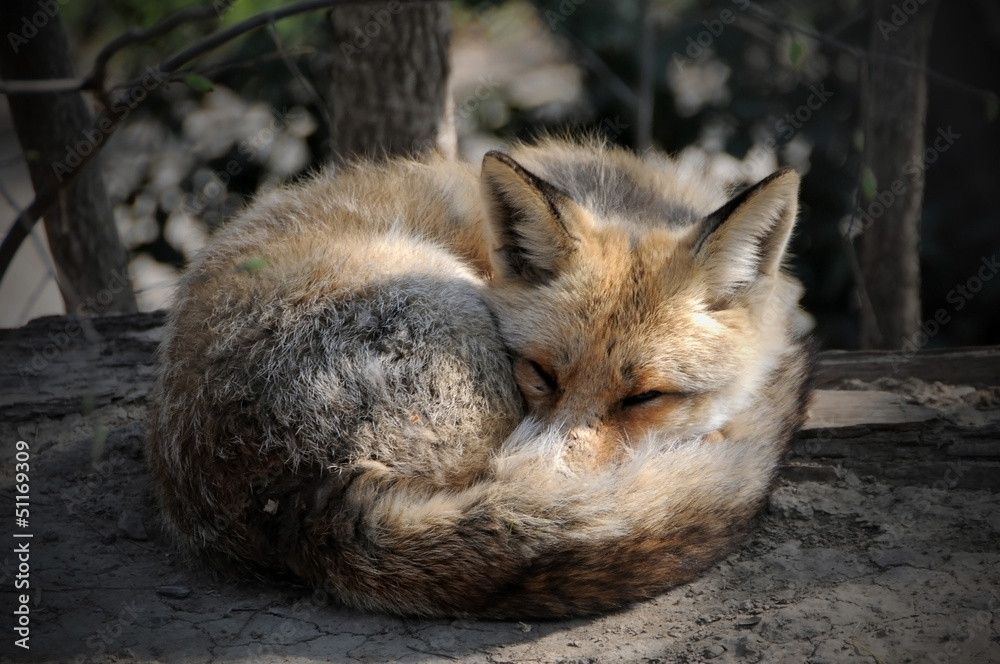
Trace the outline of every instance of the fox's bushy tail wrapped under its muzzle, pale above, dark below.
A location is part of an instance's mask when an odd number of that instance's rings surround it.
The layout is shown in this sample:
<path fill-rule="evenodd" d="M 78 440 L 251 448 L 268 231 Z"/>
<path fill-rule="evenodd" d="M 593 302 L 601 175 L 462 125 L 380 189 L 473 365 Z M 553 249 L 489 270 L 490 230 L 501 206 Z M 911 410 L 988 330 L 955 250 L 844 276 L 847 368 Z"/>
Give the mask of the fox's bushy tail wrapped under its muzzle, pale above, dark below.
<path fill-rule="evenodd" d="M 292 569 L 349 604 L 403 614 L 524 619 L 620 607 L 733 550 L 794 430 L 784 419 L 744 423 L 760 436 L 648 440 L 588 475 L 562 467 L 561 437 L 528 421 L 486 479 L 451 492 L 373 468 L 311 519 Z"/>

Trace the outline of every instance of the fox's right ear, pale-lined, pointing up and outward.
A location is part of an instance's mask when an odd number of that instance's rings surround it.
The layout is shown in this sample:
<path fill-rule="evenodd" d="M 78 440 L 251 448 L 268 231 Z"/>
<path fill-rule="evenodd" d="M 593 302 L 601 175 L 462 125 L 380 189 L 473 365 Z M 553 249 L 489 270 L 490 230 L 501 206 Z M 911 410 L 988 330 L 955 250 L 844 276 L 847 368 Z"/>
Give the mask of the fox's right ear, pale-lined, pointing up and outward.
<path fill-rule="evenodd" d="M 772 173 L 701 222 L 694 253 L 721 295 L 732 295 L 781 269 L 798 212 L 799 174 Z"/>

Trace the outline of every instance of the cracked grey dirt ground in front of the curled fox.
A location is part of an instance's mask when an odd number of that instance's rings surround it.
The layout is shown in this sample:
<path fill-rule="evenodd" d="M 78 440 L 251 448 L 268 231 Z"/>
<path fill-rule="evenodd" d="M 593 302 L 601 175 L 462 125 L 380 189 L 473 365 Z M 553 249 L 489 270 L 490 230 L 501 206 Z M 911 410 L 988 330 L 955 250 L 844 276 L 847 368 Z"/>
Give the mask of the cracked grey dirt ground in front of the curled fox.
<path fill-rule="evenodd" d="M 0 660 L 1000 662 L 994 493 L 848 472 L 784 483 L 739 553 L 653 601 L 588 620 L 401 619 L 185 562 L 159 527 L 144 416 L 141 399 L 112 400 L 0 423 L 5 497 L 14 442 L 31 445 L 34 533 L 31 648 L 12 644 L 6 547 Z"/>

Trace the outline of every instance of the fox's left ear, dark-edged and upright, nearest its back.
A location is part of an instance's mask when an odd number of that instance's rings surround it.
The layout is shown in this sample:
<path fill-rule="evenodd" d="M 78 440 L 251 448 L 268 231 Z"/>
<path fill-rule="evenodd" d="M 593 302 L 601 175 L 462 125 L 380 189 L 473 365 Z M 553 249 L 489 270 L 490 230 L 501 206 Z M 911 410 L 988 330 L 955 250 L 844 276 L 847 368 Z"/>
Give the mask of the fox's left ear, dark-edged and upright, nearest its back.
<path fill-rule="evenodd" d="M 555 278 L 576 250 L 569 230 L 576 204 L 495 150 L 483 158 L 480 185 L 497 276 L 533 284 Z"/>

